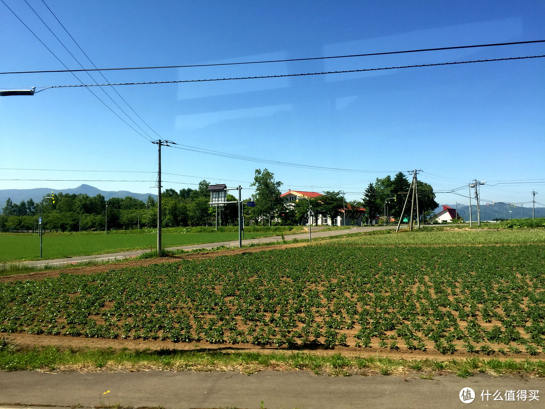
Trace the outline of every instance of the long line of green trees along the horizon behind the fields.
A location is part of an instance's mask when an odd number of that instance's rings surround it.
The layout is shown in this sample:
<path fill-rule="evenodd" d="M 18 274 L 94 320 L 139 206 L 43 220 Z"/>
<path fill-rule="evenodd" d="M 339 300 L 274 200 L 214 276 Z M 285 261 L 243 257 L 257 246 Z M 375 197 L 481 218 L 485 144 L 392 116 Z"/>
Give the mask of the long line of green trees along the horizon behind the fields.
<path fill-rule="evenodd" d="M 215 224 L 216 209 L 210 207 L 210 183 L 201 181 L 197 189 L 166 189 L 162 192 L 161 220 L 162 227 L 210 226 Z M 245 224 L 261 225 L 298 225 L 308 222 L 308 202 L 300 200 L 286 206 L 281 196 L 282 182 L 275 181 L 274 173 L 267 169 L 256 169 L 251 187 L 255 194 L 247 201 L 255 202 L 255 207 L 244 206 Z M 325 191 L 322 196 L 310 199 L 314 220 L 323 216 L 334 220 L 346 209 L 347 215 L 364 207 L 368 222 L 376 220 L 381 214 L 384 201 L 389 197 L 389 214 L 401 214 L 405 195 L 410 183 L 402 172 L 392 179 L 390 176 L 370 183 L 361 201 L 345 202 L 341 191 Z M 439 205 L 430 185 L 419 182 L 419 207 L 422 216 L 432 212 Z M 227 195 L 227 201 L 236 201 Z M 157 227 L 157 202 L 148 196 L 146 202 L 127 196 L 124 199 L 112 197 L 106 200 L 98 194 L 63 194 L 55 195 L 52 200 L 43 202 L 43 228 L 53 231 L 101 231 L 130 230 L 136 228 Z M 32 199 L 13 203 L 6 201 L 0 214 L 2 231 L 38 231 L 38 215 L 41 203 Z M 217 212 L 220 225 L 238 224 L 236 205 L 219 207 Z"/>

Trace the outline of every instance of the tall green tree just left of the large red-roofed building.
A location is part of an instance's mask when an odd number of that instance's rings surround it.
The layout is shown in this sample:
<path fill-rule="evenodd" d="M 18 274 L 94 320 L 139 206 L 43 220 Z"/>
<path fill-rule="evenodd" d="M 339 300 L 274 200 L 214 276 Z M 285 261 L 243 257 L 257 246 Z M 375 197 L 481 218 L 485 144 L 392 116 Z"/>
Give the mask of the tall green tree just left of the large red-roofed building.
<path fill-rule="evenodd" d="M 256 202 L 256 207 L 253 208 L 253 213 L 261 219 L 268 218 L 269 226 L 278 210 L 283 207 L 283 202 L 280 198 L 280 187 L 282 182 L 274 180 L 274 173 L 267 169 L 263 171 L 256 169 L 251 187 L 256 188 L 256 193 L 253 195 L 253 201 Z"/>

